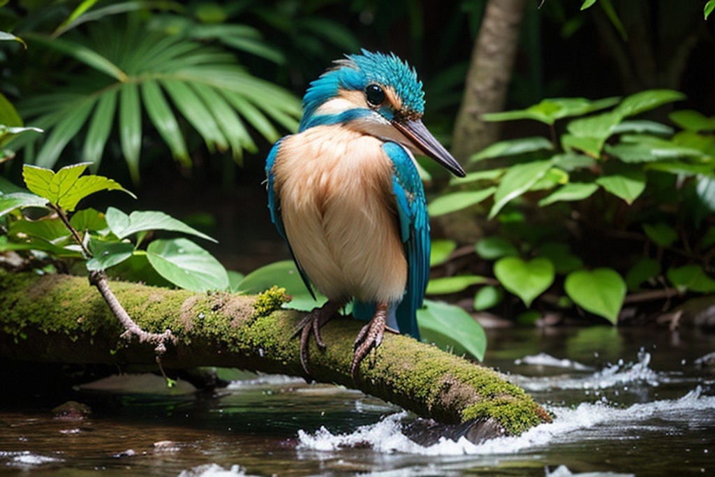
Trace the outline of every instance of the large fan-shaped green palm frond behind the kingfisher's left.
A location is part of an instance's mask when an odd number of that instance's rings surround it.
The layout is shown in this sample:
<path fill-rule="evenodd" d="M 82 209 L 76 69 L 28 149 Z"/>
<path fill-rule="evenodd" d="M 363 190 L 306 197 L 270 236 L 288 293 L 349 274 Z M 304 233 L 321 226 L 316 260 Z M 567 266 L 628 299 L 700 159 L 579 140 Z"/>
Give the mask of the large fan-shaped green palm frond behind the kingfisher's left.
<path fill-rule="evenodd" d="M 187 134 L 199 134 L 209 152 L 230 152 L 240 161 L 245 150 L 257 149 L 247 126 L 271 142 L 280 137 L 278 127 L 297 128 L 299 99 L 252 76 L 227 51 L 146 31 L 136 19 L 121 26 L 97 22 L 89 30 L 87 36 L 72 31 L 61 41 L 31 35 L 88 69 L 51 95 L 19 104 L 26 122 L 46 131 L 31 158 L 36 164 L 53 166 L 77 138 L 82 160 L 97 167 L 107 142 L 118 137 L 132 178 L 138 180 L 145 124 L 186 167 Z M 21 145 L 31 152 L 34 140 L 29 135 Z"/>

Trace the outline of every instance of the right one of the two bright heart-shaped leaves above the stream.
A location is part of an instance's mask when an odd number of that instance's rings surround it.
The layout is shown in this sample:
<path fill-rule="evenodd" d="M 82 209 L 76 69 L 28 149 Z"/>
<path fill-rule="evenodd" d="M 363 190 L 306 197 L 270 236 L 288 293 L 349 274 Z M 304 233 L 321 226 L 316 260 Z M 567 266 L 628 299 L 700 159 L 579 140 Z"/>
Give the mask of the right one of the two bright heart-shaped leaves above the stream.
<path fill-rule="evenodd" d="M 566 293 L 576 305 L 615 325 L 626 297 L 626 282 L 611 268 L 576 270 L 566 276 Z"/>

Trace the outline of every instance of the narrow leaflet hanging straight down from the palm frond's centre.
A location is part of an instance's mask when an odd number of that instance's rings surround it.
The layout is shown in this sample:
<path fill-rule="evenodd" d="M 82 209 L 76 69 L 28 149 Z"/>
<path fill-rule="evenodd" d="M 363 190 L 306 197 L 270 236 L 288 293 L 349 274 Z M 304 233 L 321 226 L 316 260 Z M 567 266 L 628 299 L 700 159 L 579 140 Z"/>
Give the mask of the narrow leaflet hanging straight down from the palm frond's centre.
<path fill-rule="evenodd" d="M 122 84 L 119 94 L 119 139 L 129 173 L 134 183 L 137 183 L 139 153 L 142 150 L 142 110 L 139 105 L 139 87 L 133 82 Z"/>

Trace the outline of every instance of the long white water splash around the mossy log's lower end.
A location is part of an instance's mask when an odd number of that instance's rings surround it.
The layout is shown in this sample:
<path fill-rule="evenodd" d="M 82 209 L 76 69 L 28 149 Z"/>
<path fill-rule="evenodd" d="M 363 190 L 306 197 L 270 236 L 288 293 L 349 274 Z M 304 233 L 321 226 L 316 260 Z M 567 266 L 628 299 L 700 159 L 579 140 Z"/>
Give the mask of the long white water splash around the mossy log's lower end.
<path fill-rule="evenodd" d="M 700 387 L 676 400 L 657 400 L 616 408 L 606 403 L 582 403 L 576 408 L 548 408 L 555 415 L 553 423 L 541 424 L 516 437 L 495 438 L 474 444 L 465 438 L 451 441 L 440 439 L 432 446 L 420 446 L 401 431 L 400 421 L 406 413 L 396 413 L 369 426 L 360 426 L 352 433 L 333 434 L 321 427 L 315 433 L 298 431 L 298 449 L 339 451 L 342 448 L 370 446 L 381 453 L 408 453 L 424 456 L 460 456 L 513 454 L 540 449 L 551 443 L 571 442 L 580 431 L 598 428 L 603 433 L 623 435 L 626 428 L 640 427 L 651 418 L 673 423 L 696 421 L 699 416 L 712 415 L 703 410 L 715 410 L 715 396 L 703 395 Z"/>

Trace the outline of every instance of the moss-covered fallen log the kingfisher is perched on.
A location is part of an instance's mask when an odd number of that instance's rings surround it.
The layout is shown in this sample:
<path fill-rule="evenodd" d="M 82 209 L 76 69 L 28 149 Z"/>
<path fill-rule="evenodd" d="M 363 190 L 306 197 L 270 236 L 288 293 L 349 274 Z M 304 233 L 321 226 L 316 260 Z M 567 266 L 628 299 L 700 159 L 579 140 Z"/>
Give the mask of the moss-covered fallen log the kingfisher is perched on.
<path fill-rule="evenodd" d="M 282 290 L 257 296 L 195 294 L 127 282 L 112 290 L 144 330 L 171 329 L 177 338 L 162 356 L 167 368 L 220 366 L 303 375 L 300 313 L 283 310 Z M 156 362 L 148 343 L 120 338 L 122 327 L 86 278 L 0 271 L 0 359 L 32 362 Z M 327 344 L 310 345 L 310 372 L 322 383 L 357 388 L 443 424 L 468 426 L 472 436 L 516 435 L 551 420 L 540 405 L 503 375 L 435 346 L 385 334 L 350 377 L 352 342 L 361 323 L 330 321 Z"/>

